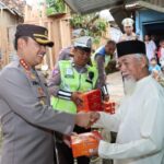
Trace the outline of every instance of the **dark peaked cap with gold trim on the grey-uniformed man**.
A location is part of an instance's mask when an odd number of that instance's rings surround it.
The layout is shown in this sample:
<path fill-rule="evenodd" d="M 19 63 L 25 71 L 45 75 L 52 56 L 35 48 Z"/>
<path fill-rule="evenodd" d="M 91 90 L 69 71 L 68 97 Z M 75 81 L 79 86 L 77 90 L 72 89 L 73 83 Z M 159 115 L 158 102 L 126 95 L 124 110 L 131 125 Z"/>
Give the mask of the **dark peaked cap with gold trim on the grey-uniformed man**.
<path fill-rule="evenodd" d="M 48 30 L 46 27 L 34 24 L 19 24 L 16 26 L 15 38 L 21 36 L 30 36 L 36 43 L 48 47 L 54 46 L 54 42 L 48 39 Z"/>

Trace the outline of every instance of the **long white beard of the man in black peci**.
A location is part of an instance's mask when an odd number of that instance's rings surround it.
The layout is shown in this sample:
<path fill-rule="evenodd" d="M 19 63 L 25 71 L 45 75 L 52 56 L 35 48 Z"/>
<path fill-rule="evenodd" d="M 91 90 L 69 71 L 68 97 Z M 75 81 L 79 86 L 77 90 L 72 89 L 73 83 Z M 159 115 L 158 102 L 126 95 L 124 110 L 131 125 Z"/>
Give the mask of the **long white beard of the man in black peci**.
<path fill-rule="evenodd" d="M 136 87 L 136 80 L 133 78 L 130 79 L 125 78 L 124 86 L 125 86 L 125 94 L 131 95 Z"/>

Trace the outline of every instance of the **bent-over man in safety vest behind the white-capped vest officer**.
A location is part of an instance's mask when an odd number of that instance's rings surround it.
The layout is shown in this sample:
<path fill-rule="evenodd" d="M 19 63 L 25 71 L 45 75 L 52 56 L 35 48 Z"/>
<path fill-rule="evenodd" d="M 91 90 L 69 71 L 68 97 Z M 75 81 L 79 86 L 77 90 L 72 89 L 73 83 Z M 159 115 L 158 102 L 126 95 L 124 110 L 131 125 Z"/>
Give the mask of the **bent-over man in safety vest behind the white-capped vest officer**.
<path fill-rule="evenodd" d="M 114 40 L 108 40 L 105 46 L 99 47 L 92 55 L 92 65 L 97 68 L 98 71 L 98 82 L 97 85 L 102 90 L 104 95 L 104 101 L 109 99 L 109 94 L 106 86 L 106 73 L 105 68 L 108 66 L 109 61 L 115 58 L 116 43 Z"/>

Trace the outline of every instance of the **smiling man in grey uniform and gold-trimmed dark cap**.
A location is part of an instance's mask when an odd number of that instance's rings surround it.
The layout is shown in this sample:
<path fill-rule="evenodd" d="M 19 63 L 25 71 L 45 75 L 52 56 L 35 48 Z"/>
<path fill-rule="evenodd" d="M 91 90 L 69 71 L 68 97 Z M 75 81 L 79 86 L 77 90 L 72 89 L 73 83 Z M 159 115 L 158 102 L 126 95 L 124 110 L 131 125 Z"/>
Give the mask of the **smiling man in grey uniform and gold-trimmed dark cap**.
<path fill-rule="evenodd" d="M 50 106 L 45 81 L 35 66 L 43 61 L 46 46 L 52 45 L 45 27 L 16 27 L 19 60 L 0 73 L 1 164 L 55 164 L 54 131 L 70 134 L 74 124 L 89 125 L 90 114 L 67 114 Z"/>

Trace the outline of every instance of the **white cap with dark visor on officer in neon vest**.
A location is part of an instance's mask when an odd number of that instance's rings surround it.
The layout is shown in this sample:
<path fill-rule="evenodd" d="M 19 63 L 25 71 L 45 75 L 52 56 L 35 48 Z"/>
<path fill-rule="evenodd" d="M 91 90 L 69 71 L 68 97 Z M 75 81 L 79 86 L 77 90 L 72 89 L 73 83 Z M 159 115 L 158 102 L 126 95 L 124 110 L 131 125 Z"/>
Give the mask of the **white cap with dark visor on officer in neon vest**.
<path fill-rule="evenodd" d="M 90 36 L 82 36 L 74 40 L 73 46 L 77 48 L 82 48 L 83 50 L 92 49 L 92 38 Z"/>

